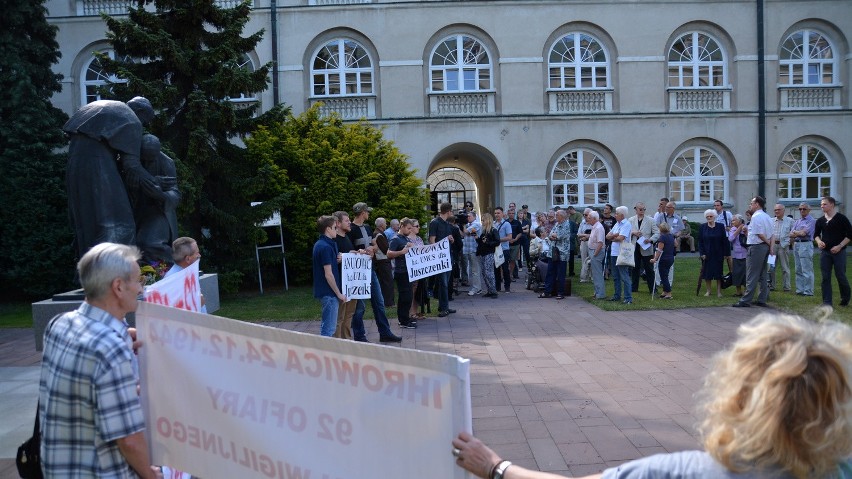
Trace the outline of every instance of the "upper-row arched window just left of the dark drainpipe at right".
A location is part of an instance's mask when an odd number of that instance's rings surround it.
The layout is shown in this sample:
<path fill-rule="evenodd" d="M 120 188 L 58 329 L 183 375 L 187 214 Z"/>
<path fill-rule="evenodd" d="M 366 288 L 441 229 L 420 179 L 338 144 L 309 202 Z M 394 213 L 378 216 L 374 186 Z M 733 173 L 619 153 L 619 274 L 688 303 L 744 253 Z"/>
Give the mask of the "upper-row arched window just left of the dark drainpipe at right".
<path fill-rule="evenodd" d="M 725 52 L 715 39 L 699 32 L 687 33 L 669 49 L 669 86 L 712 88 L 728 84 Z"/>

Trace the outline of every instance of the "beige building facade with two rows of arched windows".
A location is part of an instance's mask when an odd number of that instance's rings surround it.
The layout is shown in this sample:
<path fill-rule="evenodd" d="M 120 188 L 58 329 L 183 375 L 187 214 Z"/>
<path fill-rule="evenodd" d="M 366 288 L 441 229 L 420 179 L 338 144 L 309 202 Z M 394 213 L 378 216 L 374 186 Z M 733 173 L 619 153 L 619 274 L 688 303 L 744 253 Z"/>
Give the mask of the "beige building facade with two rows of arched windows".
<path fill-rule="evenodd" d="M 129 3 L 47 2 L 58 107 L 96 98 L 97 12 Z M 741 212 L 761 184 L 790 212 L 846 204 L 852 2 L 761 3 L 762 54 L 757 2 L 254 0 L 245 34 L 266 34 L 245 65 L 275 61 L 277 89 L 232 100 L 366 118 L 457 208 L 669 197 Z"/>

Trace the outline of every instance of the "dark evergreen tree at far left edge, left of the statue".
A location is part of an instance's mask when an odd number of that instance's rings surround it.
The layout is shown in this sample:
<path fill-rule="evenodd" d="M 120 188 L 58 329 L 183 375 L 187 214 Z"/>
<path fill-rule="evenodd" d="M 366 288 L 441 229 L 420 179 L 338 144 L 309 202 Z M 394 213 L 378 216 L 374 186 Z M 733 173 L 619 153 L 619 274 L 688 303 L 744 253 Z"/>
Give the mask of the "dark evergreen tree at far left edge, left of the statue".
<path fill-rule="evenodd" d="M 0 288 L 52 294 L 73 284 L 57 28 L 44 0 L 4 2 L 0 15 Z"/>

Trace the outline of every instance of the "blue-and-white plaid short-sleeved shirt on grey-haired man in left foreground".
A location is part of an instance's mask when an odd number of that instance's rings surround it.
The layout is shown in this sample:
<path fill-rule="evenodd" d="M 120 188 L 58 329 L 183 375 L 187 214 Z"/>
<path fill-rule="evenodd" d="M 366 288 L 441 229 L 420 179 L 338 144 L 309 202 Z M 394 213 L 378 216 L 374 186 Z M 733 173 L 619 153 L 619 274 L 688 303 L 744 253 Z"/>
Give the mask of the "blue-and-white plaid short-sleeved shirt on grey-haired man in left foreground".
<path fill-rule="evenodd" d="M 45 477 L 137 477 L 117 439 L 145 430 L 126 324 L 83 303 L 51 321 L 39 382 Z"/>

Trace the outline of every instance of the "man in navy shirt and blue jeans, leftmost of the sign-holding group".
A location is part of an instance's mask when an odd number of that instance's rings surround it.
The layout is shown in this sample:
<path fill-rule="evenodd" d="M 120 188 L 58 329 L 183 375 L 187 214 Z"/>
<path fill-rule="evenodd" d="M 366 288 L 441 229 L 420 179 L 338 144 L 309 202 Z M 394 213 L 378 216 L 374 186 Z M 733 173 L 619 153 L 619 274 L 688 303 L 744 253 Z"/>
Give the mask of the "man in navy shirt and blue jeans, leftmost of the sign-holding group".
<path fill-rule="evenodd" d="M 346 297 L 340 292 L 340 270 L 337 268 L 339 256 L 334 237 L 337 236 L 337 220 L 334 216 L 320 216 L 317 219 L 319 239 L 314 243 L 313 273 L 314 297 L 322 304 L 320 334 L 333 336 L 337 328 L 337 310 Z"/>

